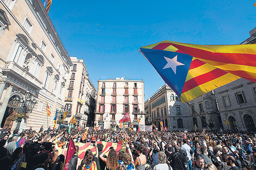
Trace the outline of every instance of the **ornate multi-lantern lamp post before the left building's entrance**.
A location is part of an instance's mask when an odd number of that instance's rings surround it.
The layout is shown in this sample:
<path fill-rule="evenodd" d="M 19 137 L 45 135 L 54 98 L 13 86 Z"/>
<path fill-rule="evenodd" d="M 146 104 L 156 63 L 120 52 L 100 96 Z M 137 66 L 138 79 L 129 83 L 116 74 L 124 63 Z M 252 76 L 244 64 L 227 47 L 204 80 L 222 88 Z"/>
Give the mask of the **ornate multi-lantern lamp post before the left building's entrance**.
<path fill-rule="evenodd" d="M 12 102 L 8 104 L 11 109 L 11 120 L 17 121 L 16 129 L 20 129 L 21 121 L 27 121 L 28 114 L 32 112 L 35 104 L 37 103 L 32 91 L 26 91 L 23 98 L 15 97 Z M 22 130 L 22 129 L 21 129 Z"/>

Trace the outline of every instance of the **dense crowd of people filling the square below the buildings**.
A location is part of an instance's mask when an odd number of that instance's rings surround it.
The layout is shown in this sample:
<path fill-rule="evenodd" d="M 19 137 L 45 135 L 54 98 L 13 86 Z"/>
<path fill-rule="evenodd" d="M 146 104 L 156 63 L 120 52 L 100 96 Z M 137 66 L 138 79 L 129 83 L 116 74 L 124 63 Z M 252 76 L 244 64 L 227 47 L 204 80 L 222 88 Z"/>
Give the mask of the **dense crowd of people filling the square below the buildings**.
<path fill-rule="evenodd" d="M 130 131 L 89 128 L 10 131 L 0 135 L 0 169 L 11 170 L 256 170 L 256 135 L 250 131 Z M 65 164 L 70 139 L 79 147 Z M 99 141 L 123 143 L 124 150 L 103 148 Z M 57 147 L 58 146 L 58 147 Z M 62 150 L 58 150 L 62 148 Z M 64 148 L 64 149 L 63 149 Z M 95 153 L 95 154 L 93 154 Z"/>

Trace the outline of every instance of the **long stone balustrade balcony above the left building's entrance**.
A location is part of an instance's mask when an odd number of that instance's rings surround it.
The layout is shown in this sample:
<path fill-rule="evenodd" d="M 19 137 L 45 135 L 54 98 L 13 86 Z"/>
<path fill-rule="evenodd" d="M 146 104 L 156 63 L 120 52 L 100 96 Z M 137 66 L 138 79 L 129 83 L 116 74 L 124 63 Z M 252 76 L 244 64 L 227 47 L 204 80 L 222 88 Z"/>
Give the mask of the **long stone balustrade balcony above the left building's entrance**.
<path fill-rule="evenodd" d="M 41 81 L 39 81 L 34 75 L 17 65 L 14 61 L 5 62 L 3 67 L 3 73 L 12 74 L 14 77 L 18 77 L 19 81 L 26 83 L 34 87 L 36 90 L 41 90 Z"/>

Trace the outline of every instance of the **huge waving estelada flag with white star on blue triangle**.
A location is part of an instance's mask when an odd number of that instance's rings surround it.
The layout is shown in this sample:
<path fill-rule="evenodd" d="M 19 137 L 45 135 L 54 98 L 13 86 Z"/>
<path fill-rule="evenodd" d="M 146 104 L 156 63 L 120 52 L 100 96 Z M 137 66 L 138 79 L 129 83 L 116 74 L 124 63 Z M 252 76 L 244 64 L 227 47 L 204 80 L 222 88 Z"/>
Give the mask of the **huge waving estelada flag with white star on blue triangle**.
<path fill-rule="evenodd" d="M 256 44 L 162 41 L 141 47 L 139 52 L 184 103 L 241 77 L 256 82 Z"/>

